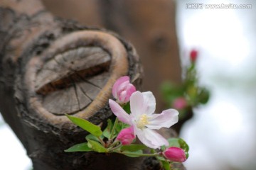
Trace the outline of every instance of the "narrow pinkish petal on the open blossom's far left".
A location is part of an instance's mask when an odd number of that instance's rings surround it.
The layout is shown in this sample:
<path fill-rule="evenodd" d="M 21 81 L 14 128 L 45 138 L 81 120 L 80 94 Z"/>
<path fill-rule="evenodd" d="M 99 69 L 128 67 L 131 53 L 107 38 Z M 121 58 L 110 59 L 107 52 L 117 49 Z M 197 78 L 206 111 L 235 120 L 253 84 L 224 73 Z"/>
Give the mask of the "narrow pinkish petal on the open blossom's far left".
<path fill-rule="evenodd" d="M 123 123 L 127 123 L 129 125 L 132 125 L 132 119 L 131 116 L 122 109 L 119 104 L 113 100 L 109 100 L 111 111 L 114 113 L 114 115 L 117 116 L 117 118 L 122 121 Z"/>

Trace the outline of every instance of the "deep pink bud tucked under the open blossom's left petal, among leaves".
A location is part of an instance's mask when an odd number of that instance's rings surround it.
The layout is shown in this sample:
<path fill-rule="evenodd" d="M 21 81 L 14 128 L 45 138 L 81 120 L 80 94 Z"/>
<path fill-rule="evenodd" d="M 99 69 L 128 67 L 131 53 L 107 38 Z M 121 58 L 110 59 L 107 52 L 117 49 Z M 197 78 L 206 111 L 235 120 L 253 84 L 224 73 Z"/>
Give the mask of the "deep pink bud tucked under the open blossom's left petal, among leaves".
<path fill-rule="evenodd" d="M 134 139 L 134 128 L 132 126 L 121 130 L 117 135 L 117 140 L 119 140 L 122 145 L 130 145 Z"/>

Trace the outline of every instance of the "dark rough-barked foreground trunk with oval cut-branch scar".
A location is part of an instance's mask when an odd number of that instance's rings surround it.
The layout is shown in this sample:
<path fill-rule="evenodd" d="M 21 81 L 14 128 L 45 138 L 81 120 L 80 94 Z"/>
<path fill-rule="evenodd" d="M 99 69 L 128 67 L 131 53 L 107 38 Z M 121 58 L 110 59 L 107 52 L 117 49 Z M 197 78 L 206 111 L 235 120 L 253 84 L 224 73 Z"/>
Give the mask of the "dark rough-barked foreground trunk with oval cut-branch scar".
<path fill-rule="evenodd" d="M 105 126 L 114 81 L 142 68 L 114 33 L 54 18 L 40 1 L 0 1 L 0 111 L 40 169 L 159 169 L 154 159 L 65 153 L 86 132 L 64 114 Z M 132 162 L 132 163 L 131 163 Z"/>

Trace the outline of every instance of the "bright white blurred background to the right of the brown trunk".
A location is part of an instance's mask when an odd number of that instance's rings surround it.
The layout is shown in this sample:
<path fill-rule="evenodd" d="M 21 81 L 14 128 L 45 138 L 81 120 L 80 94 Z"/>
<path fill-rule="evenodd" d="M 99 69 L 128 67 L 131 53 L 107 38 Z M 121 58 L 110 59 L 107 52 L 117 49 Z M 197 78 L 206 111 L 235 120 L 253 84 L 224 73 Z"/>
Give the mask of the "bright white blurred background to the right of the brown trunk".
<path fill-rule="evenodd" d="M 189 3 L 203 8 L 187 8 Z M 199 82 L 210 90 L 208 103 L 194 110 L 181 131 L 191 148 L 188 169 L 256 169 L 255 1 L 183 0 L 176 10 L 183 66 L 184 53 L 196 47 Z"/>

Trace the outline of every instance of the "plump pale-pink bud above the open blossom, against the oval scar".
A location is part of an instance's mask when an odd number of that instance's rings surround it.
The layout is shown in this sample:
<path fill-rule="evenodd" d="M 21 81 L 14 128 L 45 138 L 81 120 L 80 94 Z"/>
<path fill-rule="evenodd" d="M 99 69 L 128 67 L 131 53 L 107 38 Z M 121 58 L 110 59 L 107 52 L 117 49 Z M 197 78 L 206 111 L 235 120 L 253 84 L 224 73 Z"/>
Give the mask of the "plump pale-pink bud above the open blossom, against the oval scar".
<path fill-rule="evenodd" d="M 114 83 L 112 94 L 120 104 L 127 103 L 131 95 L 136 91 L 134 85 L 129 83 L 129 77 L 120 77 Z"/>

